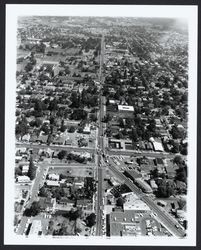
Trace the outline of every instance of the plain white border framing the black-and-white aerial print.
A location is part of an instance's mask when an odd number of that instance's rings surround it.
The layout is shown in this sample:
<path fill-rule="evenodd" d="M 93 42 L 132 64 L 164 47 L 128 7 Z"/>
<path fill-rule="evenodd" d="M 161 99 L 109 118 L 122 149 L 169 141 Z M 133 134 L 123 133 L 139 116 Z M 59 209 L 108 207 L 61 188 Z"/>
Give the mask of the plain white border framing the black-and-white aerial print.
<path fill-rule="evenodd" d="M 112 13 L 112 14 L 111 14 Z M 189 120 L 188 120 L 188 230 L 185 239 L 175 237 L 29 237 L 13 230 L 14 168 L 15 168 L 15 97 L 16 44 L 19 16 L 110 16 L 185 18 L 189 25 Z M 6 5 L 6 60 L 5 60 L 5 245 L 127 245 L 127 246 L 196 246 L 197 194 L 197 5 Z"/>

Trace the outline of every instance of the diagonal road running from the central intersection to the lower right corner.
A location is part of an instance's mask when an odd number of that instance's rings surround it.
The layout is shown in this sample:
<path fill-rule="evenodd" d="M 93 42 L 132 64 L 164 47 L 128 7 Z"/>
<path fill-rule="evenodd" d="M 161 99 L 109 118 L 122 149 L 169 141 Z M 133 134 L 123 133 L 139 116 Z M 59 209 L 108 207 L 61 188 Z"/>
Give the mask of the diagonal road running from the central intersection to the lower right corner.
<path fill-rule="evenodd" d="M 144 194 L 129 178 L 127 178 L 123 173 L 119 172 L 114 163 L 109 159 L 109 164 L 107 165 L 110 171 L 112 171 L 124 184 L 126 184 L 131 191 L 133 191 L 138 197 L 145 202 L 149 208 L 157 215 L 156 218 L 164 225 L 173 235 L 182 238 L 185 236 L 185 230 L 180 226 L 176 228 L 178 222 L 166 211 L 162 210 L 154 201 L 146 194 Z"/>

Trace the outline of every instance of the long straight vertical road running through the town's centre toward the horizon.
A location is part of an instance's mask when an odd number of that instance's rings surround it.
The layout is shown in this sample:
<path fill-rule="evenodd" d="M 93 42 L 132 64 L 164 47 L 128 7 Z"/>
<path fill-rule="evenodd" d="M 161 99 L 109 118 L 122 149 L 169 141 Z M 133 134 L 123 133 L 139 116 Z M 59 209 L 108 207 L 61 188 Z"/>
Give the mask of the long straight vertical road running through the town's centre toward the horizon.
<path fill-rule="evenodd" d="M 104 36 L 101 39 L 101 53 L 100 53 L 100 75 L 99 79 L 101 84 L 103 84 L 102 77 L 102 65 L 104 62 Z M 103 138 L 103 123 L 102 119 L 104 117 L 104 109 L 103 109 L 104 97 L 100 95 L 100 113 L 99 113 L 99 130 L 98 130 L 98 169 L 97 169 L 97 201 L 96 201 L 96 235 L 101 236 L 102 232 L 102 207 L 103 207 L 103 169 L 101 167 L 102 155 L 101 151 L 104 151 L 104 138 Z"/>

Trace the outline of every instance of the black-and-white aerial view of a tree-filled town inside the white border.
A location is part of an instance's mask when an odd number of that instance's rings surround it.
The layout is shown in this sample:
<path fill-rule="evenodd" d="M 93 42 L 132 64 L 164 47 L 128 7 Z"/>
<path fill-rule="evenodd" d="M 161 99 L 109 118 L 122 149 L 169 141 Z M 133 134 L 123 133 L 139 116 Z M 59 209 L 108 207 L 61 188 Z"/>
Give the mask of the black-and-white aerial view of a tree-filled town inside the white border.
<path fill-rule="evenodd" d="M 187 22 L 18 17 L 15 235 L 188 236 Z"/>

